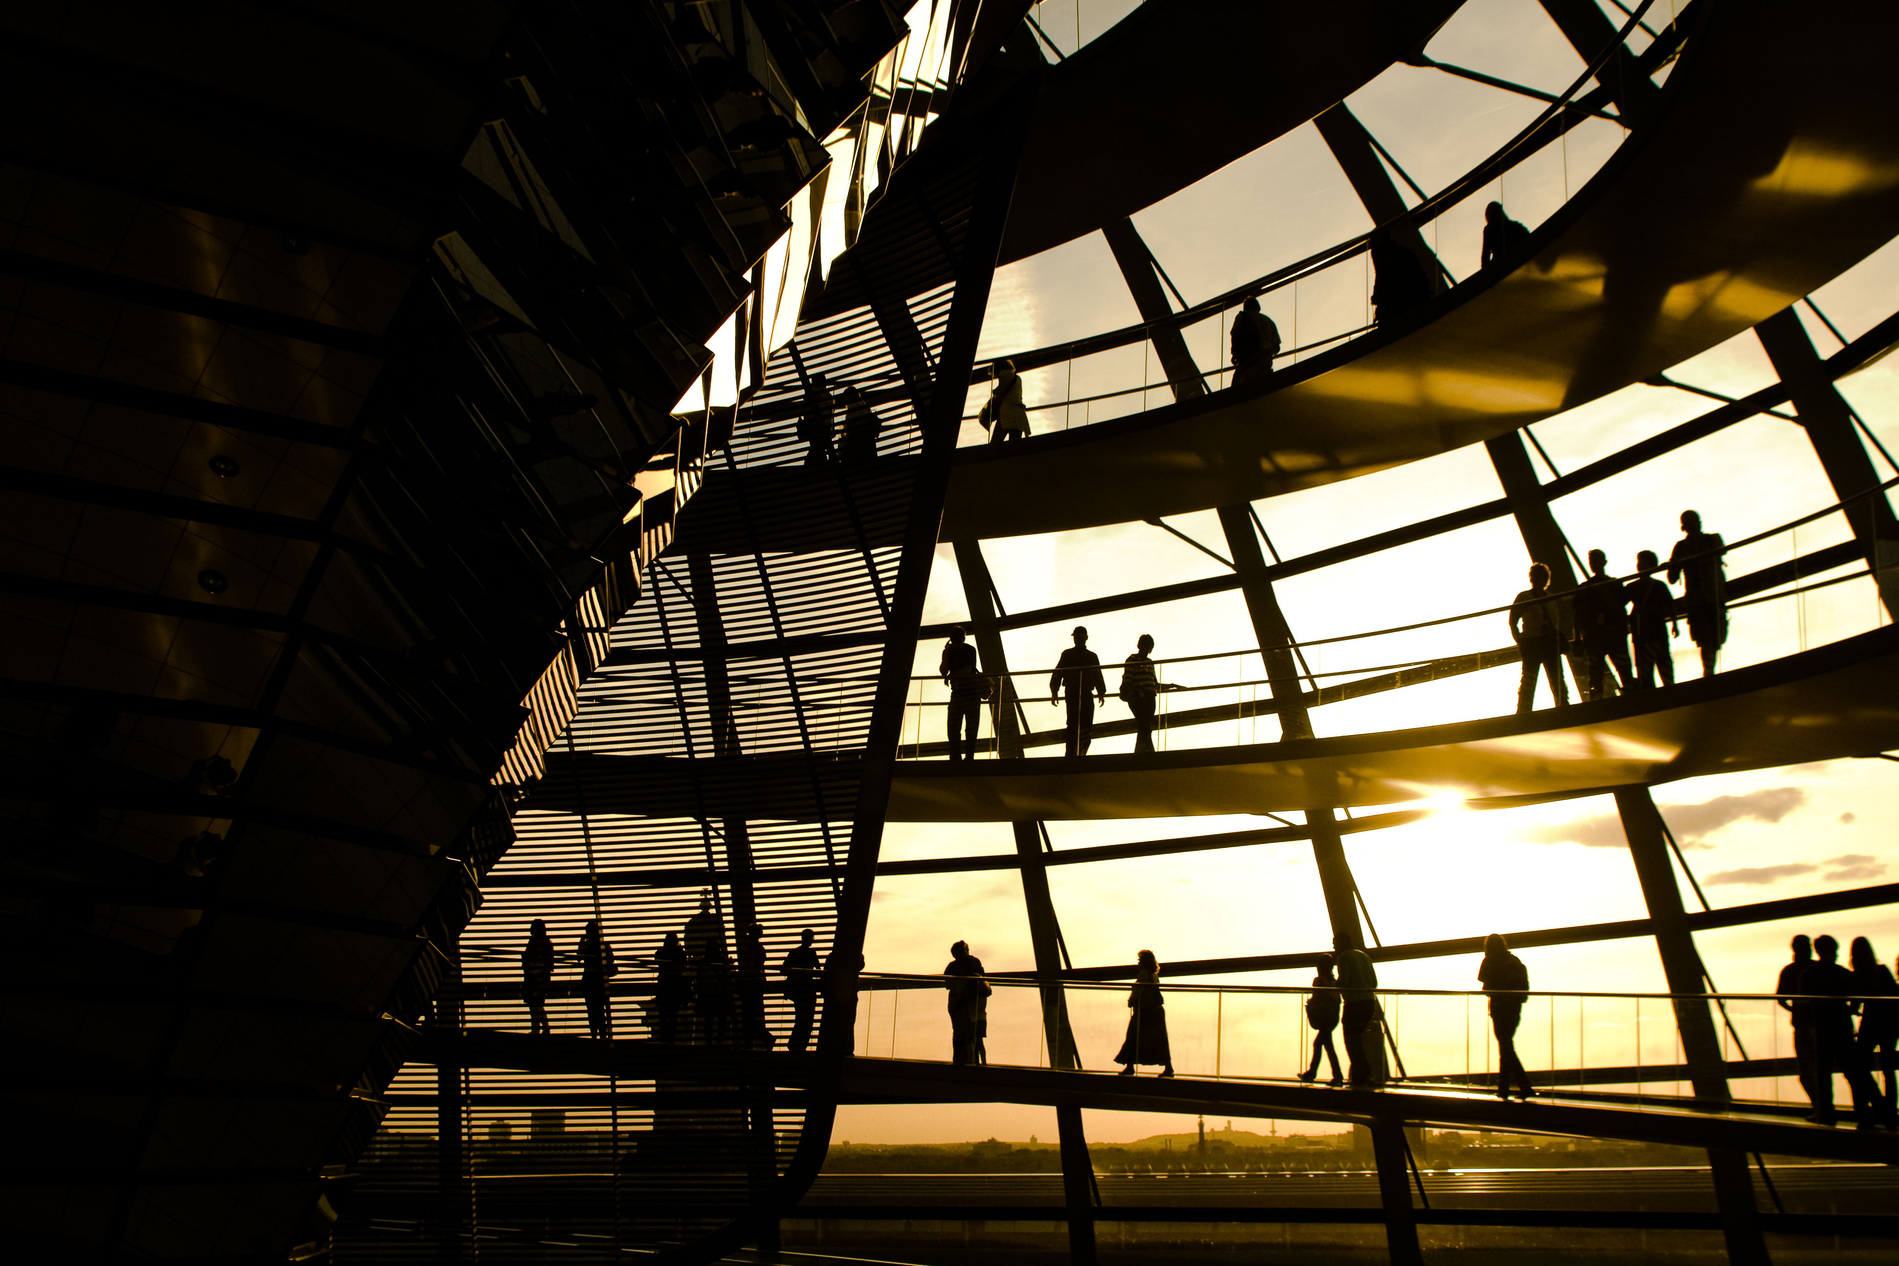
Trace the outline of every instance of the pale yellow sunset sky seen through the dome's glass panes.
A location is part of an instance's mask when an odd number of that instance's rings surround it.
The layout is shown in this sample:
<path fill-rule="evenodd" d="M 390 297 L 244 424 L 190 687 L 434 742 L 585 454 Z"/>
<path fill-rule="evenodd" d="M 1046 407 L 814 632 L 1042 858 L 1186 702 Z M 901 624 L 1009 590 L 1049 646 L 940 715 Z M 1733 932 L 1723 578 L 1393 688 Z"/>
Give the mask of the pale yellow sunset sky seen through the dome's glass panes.
<path fill-rule="evenodd" d="M 1073 2 L 1039 6 L 1044 28 L 1065 47 L 1073 46 Z M 1130 2 L 1081 0 L 1084 38 L 1111 25 Z M 1669 6 L 1656 13 L 1665 21 Z M 1063 32 L 1067 32 L 1063 36 Z M 1582 61 L 1557 34 L 1534 0 L 1470 0 L 1430 44 L 1432 57 L 1563 91 L 1580 74 Z M 1538 102 L 1481 87 L 1434 70 L 1400 66 L 1350 99 L 1352 110 L 1384 142 L 1426 192 L 1447 184 L 1502 139 L 1538 112 Z M 1567 148 L 1551 148 L 1504 180 L 1510 213 L 1532 228 L 1567 195 L 1584 186 L 1622 139 L 1622 129 L 1595 121 L 1570 135 Z M 1447 214 L 1438 228 L 1438 251 L 1458 277 L 1476 271 L 1481 199 Z M 1333 163 L 1316 129 L 1307 125 L 1257 150 L 1200 184 L 1136 216 L 1151 251 L 1181 289 L 1198 302 L 1272 268 L 1303 258 L 1329 243 L 1369 228 L 1350 186 Z M 1354 264 L 1356 271 L 1356 264 Z M 1299 296 L 1299 338 L 1358 325 L 1363 279 L 1335 277 Z M 1859 268 L 1821 289 L 1814 298 L 1836 326 L 1853 338 L 1888 317 L 1899 292 L 1899 247 L 1886 247 Z M 1274 309 L 1274 304 L 1282 304 Z M 1267 302 L 1293 345 L 1291 294 Z M 1810 334 L 1821 355 L 1840 344 L 1808 313 Z M 982 357 L 1005 355 L 1138 321 L 1126 287 L 1100 235 L 1005 268 L 997 275 Z M 1327 323 L 1331 326 L 1327 328 Z M 1202 368 L 1221 364 L 1219 328 L 1204 325 L 1189 336 Z M 1126 349 L 1113 363 L 1079 374 L 1071 387 L 1065 370 L 1027 376 L 1029 404 L 1141 382 L 1139 349 Z M 1149 366 L 1149 382 L 1160 382 Z M 1724 395 L 1743 395 L 1774 382 L 1766 355 L 1753 334 L 1743 334 L 1694 361 L 1675 366 L 1671 378 Z M 1899 446 L 1899 376 L 1891 361 L 1874 364 L 1840 383 L 1888 448 Z M 1147 402 L 1164 402 L 1153 391 Z M 1138 406 L 1139 397 L 1130 404 Z M 1551 418 L 1534 427 L 1536 438 L 1561 471 L 1607 456 L 1627 444 L 1698 416 L 1713 400 L 1664 387 L 1627 387 L 1612 397 Z M 1100 406 L 1098 406 L 1100 408 Z M 1101 414 L 1096 414 L 1100 418 Z M 1031 414 L 1041 431 L 1062 423 L 1062 410 Z M 1081 423 L 1081 412 L 1073 416 Z M 980 440 L 974 427 L 965 442 Z M 1882 478 L 1899 475 L 1874 454 Z M 1548 476 L 1548 473 L 1544 473 Z M 1282 556 L 1297 556 L 1339 541 L 1363 537 L 1500 495 L 1481 446 L 1458 450 L 1398 471 L 1348 480 L 1257 503 L 1261 520 Z M 1755 418 L 1669 457 L 1599 484 L 1555 505 L 1578 550 L 1608 550 L 1610 569 L 1633 569 L 1639 549 L 1667 554 L 1679 537 L 1683 509 L 1702 511 L 1707 528 L 1734 541 L 1774 528 L 1833 503 L 1833 493 L 1804 433 L 1777 418 Z M 1225 552 L 1212 512 L 1170 520 L 1181 531 Z M 1838 516 L 1781 535 L 1730 560 L 1741 575 L 1795 552 L 1808 552 L 1848 531 Z M 1213 560 L 1145 524 L 1088 531 L 1016 537 L 986 543 L 989 568 L 1010 611 L 1056 602 L 1113 594 L 1200 575 L 1221 573 Z M 1369 560 L 1329 568 L 1278 588 L 1288 621 L 1299 638 L 1326 638 L 1495 607 L 1523 588 L 1527 556 L 1512 520 L 1496 520 Z M 927 621 L 963 619 L 965 607 L 948 550 L 938 554 Z M 1869 581 L 1760 604 L 1736 613 L 1724 668 L 1774 659 L 1802 647 L 1863 632 L 1886 617 Z M 1156 657 L 1244 651 L 1253 636 L 1238 594 L 1126 611 L 1088 621 L 1092 647 L 1103 664 L 1115 664 L 1149 632 Z M 1508 645 L 1500 615 L 1447 624 L 1419 634 L 1375 638 L 1326 647 L 1314 657 L 1316 672 L 1401 662 Z M 1046 668 L 1067 645 L 1067 624 L 1020 630 L 1006 636 L 1010 666 Z M 1698 676 L 1694 647 L 1684 636 L 1675 643 L 1677 672 Z M 934 668 L 936 643 L 919 649 L 917 672 Z M 1470 674 L 1426 687 L 1411 687 L 1314 712 L 1320 735 L 1400 729 L 1434 721 L 1496 716 L 1512 710 L 1515 666 Z M 1229 657 L 1181 664 L 1164 676 L 1183 683 L 1221 683 L 1259 678 L 1259 659 Z M 1113 691 L 1115 674 L 1109 674 Z M 1037 687 L 1024 693 L 1035 700 Z M 1232 691 L 1187 695 L 1187 706 L 1231 702 Z M 1548 706 L 1548 698 L 1540 698 Z M 1126 716 L 1109 700 L 1103 719 Z M 1060 714 L 1029 702 L 1031 723 L 1050 727 Z M 987 736 L 987 719 L 984 736 Z M 942 736 L 942 710 L 929 712 L 925 738 Z M 1227 723 L 1168 735 L 1174 748 L 1267 742 L 1276 723 Z M 906 735 L 908 738 L 908 735 Z M 1096 744 L 1098 752 L 1126 752 L 1130 738 Z M 1899 769 L 1878 759 L 1833 761 L 1770 769 L 1719 778 L 1700 778 L 1656 788 L 1673 831 L 1681 837 L 1696 877 L 1715 905 L 1747 903 L 1802 892 L 1863 886 L 1893 877 L 1899 852 L 1890 845 L 1899 809 L 1893 788 Z M 1052 822 L 1054 847 L 1168 839 L 1221 829 L 1272 826 L 1267 818 L 1189 818 L 1130 822 Z M 885 829 L 883 856 L 927 858 L 1010 852 L 1006 824 L 910 826 Z M 1430 820 L 1346 839 L 1352 867 L 1377 932 L 1386 943 L 1472 936 L 1489 930 L 1565 926 L 1607 919 L 1643 917 L 1614 805 L 1608 797 L 1576 799 L 1536 809 L 1464 812 L 1443 803 Z M 1196 852 L 1115 864 L 1056 867 L 1050 871 L 1063 934 L 1077 966 L 1130 962 L 1138 949 L 1153 949 L 1162 962 L 1179 959 L 1289 953 L 1320 949 L 1329 932 L 1310 847 L 1305 843 Z M 1690 909 L 1694 894 L 1684 884 Z M 1715 981 L 1726 991 L 1758 991 L 1774 983 L 1793 932 L 1833 932 L 1842 943 L 1855 934 L 1874 940 L 1882 957 L 1899 951 L 1899 915 L 1891 907 L 1829 917 L 1798 926 L 1753 926 L 1698 938 Z M 870 922 L 866 957 L 872 970 L 934 972 L 948 959 L 948 945 L 967 938 L 993 970 L 1025 970 L 1033 964 L 1022 913 L 1020 881 L 1008 871 L 883 879 Z M 1658 991 L 1662 972 L 1652 941 L 1631 940 L 1593 947 L 1527 951 L 1525 960 L 1538 989 Z M 1392 987 L 1474 989 L 1476 959 L 1419 960 L 1381 968 Z M 1276 977 L 1219 977 L 1219 983 L 1301 985 L 1305 972 Z M 1005 996 L 1012 995 L 1012 996 Z M 877 1053 L 946 1057 L 950 1029 L 942 998 L 910 993 L 896 1004 L 879 998 L 860 1025 Z M 1073 1004 L 1082 1057 L 1088 1067 L 1107 1065 L 1126 1012 L 1120 993 L 1086 995 Z M 1234 1002 L 1240 1008 L 1240 1002 Z M 1248 1002 L 1246 1006 L 1253 1006 Z M 1263 1006 L 1263 1004 L 1261 1004 Z M 1227 1012 L 1225 1069 L 1244 1072 L 1251 1059 L 1259 1071 L 1284 1074 L 1299 1042 L 1291 1002 L 1272 1000 L 1270 1015 L 1257 1023 Z M 1407 1004 L 1407 1048 L 1415 1071 L 1462 1067 L 1462 1002 Z M 1588 1015 L 1572 1012 L 1561 1023 L 1576 1040 L 1557 1038 L 1555 1057 L 1574 1059 L 1576 1042 L 1633 1040 L 1627 1004 L 1599 1004 Z M 1616 1010 L 1616 1008 L 1622 1010 Z M 1758 1015 L 1736 1010 L 1736 1023 L 1751 1046 L 1785 1034 L 1764 1006 Z M 908 1014 L 906 1014 L 906 1008 Z M 1200 998 L 1175 998 L 1170 1006 L 1175 1052 L 1193 1063 L 1212 1042 L 1212 1019 Z M 1253 1025 L 1248 1029 L 1248 1025 Z M 1527 1025 L 1532 1023 L 1527 1019 Z M 877 1036 L 881 1033 L 881 1036 Z M 1487 1050 L 1481 1023 L 1474 1033 L 1474 1057 Z M 1665 1014 L 1643 1012 L 1643 1050 L 1667 1038 Z M 1479 1050 L 1481 1048 L 1481 1050 Z M 1033 1004 L 1025 991 L 995 998 L 991 1057 L 1035 1057 Z M 1538 1048 L 1544 1050 L 1544 1048 Z M 1189 1055 L 1187 1052 L 1194 1052 Z M 1749 1053 L 1762 1053 L 1751 1050 Z M 1785 1050 L 1781 1052 L 1785 1053 Z M 1544 1057 L 1548 1052 L 1544 1050 Z M 1538 1057 L 1525 1050 L 1534 1071 Z M 1212 1071 L 1212 1055 L 1206 1055 Z M 1269 1067 L 1272 1065 L 1272 1067 Z M 1479 1063 L 1481 1067 L 1481 1063 Z M 1548 1067 L 1548 1065 L 1544 1065 Z M 1183 1069 L 1185 1072 L 1185 1069 Z M 1772 1095 L 1772 1086 L 1745 1093 Z M 1785 1093 L 1785 1088 L 1781 1088 Z M 1160 1129 L 1179 1129 L 1172 1118 L 1147 1114 L 1090 1114 L 1098 1141 L 1136 1139 Z M 1312 1127 L 1299 1127 L 1312 1129 Z M 1041 1108 L 845 1108 L 836 1137 L 855 1143 L 959 1141 L 999 1135 L 1025 1139 L 1050 1135 L 1052 1112 Z"/>

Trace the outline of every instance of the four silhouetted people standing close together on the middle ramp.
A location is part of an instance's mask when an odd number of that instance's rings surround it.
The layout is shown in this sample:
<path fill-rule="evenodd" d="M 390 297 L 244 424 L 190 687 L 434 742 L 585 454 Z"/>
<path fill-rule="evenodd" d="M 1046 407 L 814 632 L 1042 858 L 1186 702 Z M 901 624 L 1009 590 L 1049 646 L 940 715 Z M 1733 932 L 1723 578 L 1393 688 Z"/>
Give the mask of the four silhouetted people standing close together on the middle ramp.
<path fill-rule="evenodd" d="M 1728 583 L 1722 562 L 1726 543 L 1702 530 L 1702 516 L 1681 512 L 1681 541 L 1669 552 L 1667 568 L 1654 550 L 1635 554 L 1635 579 L 1622 583 L 1608 575 L 1608 554 L 1589 550 L 1589 577 L 1572 590 L 1550 590 L 1550 568 L 1531 564 L 1531 586 L 1510 604 L 1510 636 L 1523 661 L 1517 683 L 1517 712 L 1536 706 L 1538 672 L 1550 681 L 1555 706 L 1569 702 L 1563 657 L 1582 661 L 1578 687 L 1584 698 L 1607 698 L 1608 670 L 1622 691 L 1675 685 L 1675 657 L 1669 638 L 1681 632 L 1675 581 L 1683 583 L 1681 615 L 1688 638 L 1702 651 L 1702 676 L 1713 676 L 1715 661 L 1728 640 Z M 1656 573 L 1665 571 L 1667 581 Z M 1629 649 L 1633 645 L 1633 664 Z"/>

